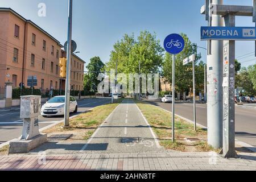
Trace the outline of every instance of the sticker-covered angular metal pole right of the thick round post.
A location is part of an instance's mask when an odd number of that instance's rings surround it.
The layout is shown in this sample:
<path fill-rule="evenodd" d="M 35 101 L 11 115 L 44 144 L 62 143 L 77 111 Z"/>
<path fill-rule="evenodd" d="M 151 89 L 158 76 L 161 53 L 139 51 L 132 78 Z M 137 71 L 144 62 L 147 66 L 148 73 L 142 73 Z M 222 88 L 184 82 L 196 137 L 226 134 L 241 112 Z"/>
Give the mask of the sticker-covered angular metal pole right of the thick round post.
<path fill-rule="evenodd" d="M 225 26 L 234 27 L 236 16 L 226 15 Z M 223 64 L 223 149 L 225 158 L 236 158 L 235 151 L 235 41 L 224 41 L 224 64 Z"/>

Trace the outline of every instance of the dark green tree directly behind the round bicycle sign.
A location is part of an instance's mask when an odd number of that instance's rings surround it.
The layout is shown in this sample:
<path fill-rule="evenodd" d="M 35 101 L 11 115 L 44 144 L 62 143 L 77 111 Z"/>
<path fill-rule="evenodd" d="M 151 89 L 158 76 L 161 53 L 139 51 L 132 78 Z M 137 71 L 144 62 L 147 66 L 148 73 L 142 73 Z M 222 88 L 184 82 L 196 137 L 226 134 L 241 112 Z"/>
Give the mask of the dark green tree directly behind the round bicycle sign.
<path fill-rule="evenodd" d="M 195 72 L 196 72 L 196 89 L 203 89 L 204 85 L 204 63 L 201 59 L 201 55 L 197 53 L 196 46 L 193 46 L 191 41 L 188 39 L 188 36 L 181 34 L 185 40 L 184 50 L 176 55 L 175 60 L 175 89 L 177 92 L 188 92 L 189 88 L 193 87 L 192 79 L 192 63 L 183 65 L 183 60 L 195 53 Z M 166 53 L 163 62 L 163 77 L 166 78 L 167 82 L 172 82 L 172 56 L 169 53 Z"/>

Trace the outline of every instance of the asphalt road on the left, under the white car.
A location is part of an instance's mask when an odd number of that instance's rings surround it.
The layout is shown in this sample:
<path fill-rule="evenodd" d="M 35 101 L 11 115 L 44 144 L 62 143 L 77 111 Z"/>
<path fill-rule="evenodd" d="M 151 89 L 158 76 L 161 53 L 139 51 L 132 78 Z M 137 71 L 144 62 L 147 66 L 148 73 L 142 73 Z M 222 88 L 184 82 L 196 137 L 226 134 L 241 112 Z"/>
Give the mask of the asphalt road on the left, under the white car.
<path fill-rule="evenodd" d="M 77 101 L 79 106 L 77 113 L 71 113 L 72 115 L 80 114 L 93 107 L 104 105 L 110 102 L 110 98 L 90 98 Z M 51 125 L 52 123 L 63 120 L 63 116 L 44 118 L 39 116 L 39 129 L 42 127 Z M 19 118 L 19 107 L 16 110 L 1 110 L 0 111 L 0 144 L 7 142 L 11 139 L 18 138 L 22 133 L 22 120 Z"/>

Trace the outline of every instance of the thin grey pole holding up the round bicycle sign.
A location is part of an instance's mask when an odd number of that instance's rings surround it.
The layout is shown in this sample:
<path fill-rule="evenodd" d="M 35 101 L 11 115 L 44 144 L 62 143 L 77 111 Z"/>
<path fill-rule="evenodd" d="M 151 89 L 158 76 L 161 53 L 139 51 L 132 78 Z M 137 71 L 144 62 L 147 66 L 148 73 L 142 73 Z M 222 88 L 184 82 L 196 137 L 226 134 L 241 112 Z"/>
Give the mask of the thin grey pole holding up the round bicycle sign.
<path fill-rule="evenodd" d="M 172 55 L 172 142 L 175 141 L 175 55 Z"/>

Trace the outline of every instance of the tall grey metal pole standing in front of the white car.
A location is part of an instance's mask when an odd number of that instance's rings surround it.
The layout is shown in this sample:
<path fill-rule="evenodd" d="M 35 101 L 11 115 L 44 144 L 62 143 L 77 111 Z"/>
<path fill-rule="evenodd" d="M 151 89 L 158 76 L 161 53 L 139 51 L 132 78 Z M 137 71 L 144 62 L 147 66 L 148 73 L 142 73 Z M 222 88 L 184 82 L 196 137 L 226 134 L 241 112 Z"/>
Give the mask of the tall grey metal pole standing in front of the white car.
<path fill-rule="evenodd" d="M 71 42 L 72 42 L 72 4 L 69 0 L 68 12 L 68 45 L 67 45 L 67 79 L 65 85 L 65 110 L 64 110 L 64 127 L 69 126 L 69 101 L 70 101 L 70 79 L 71 79 Z"/>

